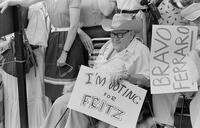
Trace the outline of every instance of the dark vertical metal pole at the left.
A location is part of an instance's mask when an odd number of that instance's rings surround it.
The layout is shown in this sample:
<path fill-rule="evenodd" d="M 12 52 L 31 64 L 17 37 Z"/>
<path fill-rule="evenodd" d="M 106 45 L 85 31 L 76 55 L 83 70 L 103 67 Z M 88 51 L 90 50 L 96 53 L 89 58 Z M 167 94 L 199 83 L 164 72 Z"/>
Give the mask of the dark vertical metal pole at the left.
<path fill-rule="evenodd" d="M 28 111 L 27 111 L 27 94 L 26 94 L 26 74 L 24 66 L 24 50 L 23 50 L 23 20 L 22 8 L 20 6 L 13 7 L 14 31 L 15 31 L 15 49 L 18 94 L 19 94 L 19 115 L 21 128 L 28 128 Z"/>

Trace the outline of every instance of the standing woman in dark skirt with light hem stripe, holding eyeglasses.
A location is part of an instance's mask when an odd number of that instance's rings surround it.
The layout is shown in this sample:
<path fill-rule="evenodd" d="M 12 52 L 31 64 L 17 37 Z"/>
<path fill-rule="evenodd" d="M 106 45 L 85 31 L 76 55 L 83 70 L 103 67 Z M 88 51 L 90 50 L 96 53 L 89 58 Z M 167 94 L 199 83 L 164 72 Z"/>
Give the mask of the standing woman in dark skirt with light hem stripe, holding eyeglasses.
<path fill-rule="evenodd" d="M 48 86 L 64 85 L 65 90 L 73 86 L 80 65 L 88 65 L 88 52 L 77 32 L 81 0 L 54 2 L 46 1 L 51 33 L 45 55 L 45 82 Z"/>

